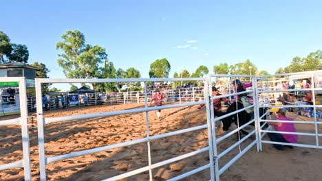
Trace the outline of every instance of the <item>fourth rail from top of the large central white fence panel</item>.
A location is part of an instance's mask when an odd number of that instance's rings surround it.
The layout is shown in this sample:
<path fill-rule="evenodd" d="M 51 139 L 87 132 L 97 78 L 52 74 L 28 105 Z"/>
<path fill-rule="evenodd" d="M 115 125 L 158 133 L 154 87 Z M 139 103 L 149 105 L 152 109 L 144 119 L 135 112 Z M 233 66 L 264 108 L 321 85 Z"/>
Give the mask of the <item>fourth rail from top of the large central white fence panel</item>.
<path fill-rule="evenodd" d="M 196 154 L 200 154 L 200 153 L 202 153 L 202 152 L 207 152 L 208 150 L 209 150 L 209 147 L 204 147 L 204 148 L 202 148 L 202 149 L 199 149 L 199 150 L 194 151 L 194 152 L 190 152 L 190 153 L 188 153 L 188 154 L 184 154 L 184 155 L 181 155 L 181 156 L 177 156 L 177 157 L 175 157 L 175 158 L 171 158 L 171 159 L 169 159 L 169 160 L 164 160 L 164 161 L 162 161 L 162 162 L 155 163 L 155 164 L 153 164 L 153 165 L 151 165 L 151 166 L 142 167 L 142 168 L 140 168 L 140 169 L 136 169 L 136 170 L 133 170 L 133 171 L 129 171 L 129 172 L 127 172 L 127 173 L 123 173 L 123 174 L 121 174 L 121 175 L 114 176 L 114 177 L 112 177 L 112 178 L 107 178 L 107 179 L 105 179 L 105 180 L 103 180 L 103 181 L 120 180 L 120 179 L 122 179 L 122 178 L 127 178 L 127 177 L 129 177 L 129 176 L 133 176 L 133 175 L 136 175 L 136 174 L 138 174 L 138 173 L 142 173 L 142 172 L 147 171 L 147 170 L 149 170 L 149 169 L 155 169 L 155 168 L 157 168 L 157 167 L 161 167 L 161 166 L 163 166 L 163 165 L 167 165 L 167 164 L 169 164 L 169 163 L 171 163 L 171 162 L 176 162 L 176 161 L 178 161 L 178 160 L 182 160 L 182 159 L 184 159 L 184 158 L 189 158 L 189 157 L 191 157 L 191 156 L 195 156 Z"/>

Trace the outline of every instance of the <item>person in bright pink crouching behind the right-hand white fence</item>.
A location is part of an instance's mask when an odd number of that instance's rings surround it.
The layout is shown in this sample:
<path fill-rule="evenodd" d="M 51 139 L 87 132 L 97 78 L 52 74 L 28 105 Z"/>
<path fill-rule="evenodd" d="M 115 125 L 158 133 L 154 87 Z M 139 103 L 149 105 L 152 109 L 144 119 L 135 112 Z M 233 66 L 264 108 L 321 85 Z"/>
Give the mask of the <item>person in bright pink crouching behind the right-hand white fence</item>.
<path fill-rule="evenodd" d="M 272 114 L 273 120 L 281 121 L 292 121 L 292 118 L 286 117 L 286 109 L 280 108 L 276 113 Z M 274 126 L 275 131 L 277 132 L 297 132 L 297 129 L 294 126 L 294 123 L 277 123 L 277 122 L 268 122 L 268 125 Z M 283 134 L 283 133 L 272 133 L 268 132 L 270 141 L 281 142 L 281 143 L 297 143 L 297 134 Z M 275 149 L 283 150 L 284 147 L 293 148 L 290 145 L 279 145 L 273 144 Z"/>

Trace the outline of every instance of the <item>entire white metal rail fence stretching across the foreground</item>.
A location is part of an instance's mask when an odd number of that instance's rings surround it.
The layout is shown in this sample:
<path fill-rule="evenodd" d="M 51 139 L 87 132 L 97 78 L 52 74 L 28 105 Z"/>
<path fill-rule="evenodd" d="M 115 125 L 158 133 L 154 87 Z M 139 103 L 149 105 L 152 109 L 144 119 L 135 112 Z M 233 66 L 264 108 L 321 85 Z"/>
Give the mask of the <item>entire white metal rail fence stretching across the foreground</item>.
<path fill-rule="evenodd" d="M 304 77 L 309 76 L 312 86 L 310 88 L 299 88 L 299 89 L 286 89 L 286 90 L 280 90 L 279 86 L 275 86 L 274 84 L 270 84 L 270 82 L 279 82 L 279 78 L 283 77 L 284 80 L 288 80 L 288 76 L 294 76 L 297 75 L 298 77 L 301 77 L 303 75 Z M 253 86 L 248 88 L 246 91 L 241 93 L 230 93 L 230 87 L 228 87 L 228 93 L 224 95 L 219 96 L 212 96 L 210 95 L 212 93 L 211 91 L 211 85 L 217 80 L 218 77 L 225 77 L 227 80 L 235 80 L 235 79 L 241 79 L 244 77 L 250 77 L 253 80 Z M 138 173 L 142 173 L 144 171 L 149 171 L 149 178 L 152 180 L 152 169 L 155 169 L 157 167 L 161 167 L 163 165 L 167 165 L 171 162 L 175 162 L 178 160 L 182 160 L 184 158 L 189 158 L 191 156 L 195 156 L 197 154 L 200 154 L 202 152 L 208 152 L 209 154 L 209 163 L 207 165 L 204 165 L 202 167 L 199 167 L 197 169 L 194 169 L 192 171 L 186 172 L 180 176 L 177 176 L 175 178 L 171 178 L 171 180 L 180 180 L 182 178 L 186 178 L 187 176 L 191 176 L 199 171 L 203 171 L 205 169 L 209 169 L 211 173 L 211 180 L 219 180 L 219 176 L 228 169 L 233 163 L 239 159 L 241 156 L 243 156 L 251 147 L 254 145 L 257 145 L 257 151 L 262 150 L 262 143 L 277 143 L 272 141 L 266 141 L 263 139 L 264 134 L 267 132 L 275 132 L 270 130 L 270 127 L 268 127 L 268 130 L 264 129 L 264 125 L 260 125 L 261 122 L 283 122 L 283 123 L 303 123 L 303 124 L 311 124 L 314 125 L 314 132 L 308 133 L 308 132 L 279 132 L 283 134 L 297 134 L 297 135 L 303 135 L 303 136 L 314 136 L 315 143 L 314 145 L 310 144 L 291 144 L 291 143 L 278 143 L 282 145 L 294 145 L 298 147 L 311 147 L 311 148 L 318 148 L 321 149 L 322 146 L 319 145 L 319 137 L 322 136 L 322 134 L 319 134 L 319 125 L 322 124 L 322 121 L 319 121 L 320 113 L 318 109 L 321 109 L 322 106 L 319 104 L 319 100 L 316 97 L 316 93 L 319 91 L 321 92 L 321 77 L 322 77 L 322 71 L 311 71 L 311 72 L 304 72 L 304 73 L 292 73 L 292 74 L 281 74 L 281 75 L 264 75 L 260 77 L 253 77 L 251 75 L 207 75 L 205 78 L 174 78 L 174 79 L 102 79 L 102 80 L 87 80 L 87 79 L 36 79 L 36 111 L 37 111 L 37 119 L 38 119 L 38 136 L 39 136 L 39 167 L 40 167 L 40 178 L 41 180 L 46 180 L 46 165 L 50 164 L 51 162 L 56 162 L 60 160 L 64 160 L 67 158 L 74 158 L 77 156 L 83 156 L 86 154 L 94 154 L 96 152 L 102 152 L 106 151 L 108 149 L 114 149 L 117 147 L 125 147 L 129 145 L 135 145 L 138 143 L 147 143 L 148 147 L 148 159 L 149 159 L 149 165 L 146 167 L 142 167 L 140 169 L 136 169 L 133 171 L 129 171 L 127 173 L 123 173 L 118 176 L 114 176 L 112 178 L 107 178 L 106 180 L 120 180 L 122 178 L 127 178 L 129 176 L 136 175 Z M 174 81 L 202 81 L 204 82 L 204 100 L 193 100 L 193 101 L 184 101 L 179 102 L 179 104 L 169 104 L 166 106 L 160 106 L 158 108 L 155 107 L 149 107 L 148 106 L 148 93 L 147 93 L 147 82 L 174 82 Z M 281 81 L 281 82 L 283 82 Z M 28 117 L 28 106 L 27 106 L 27 95 L 26 95 L 26 85 L 25 85 L 25 78 L 24 77 L 3 77 L 0 78 L 0 82 L 19 82 L 19 97 L 20 97 L 20 110 L 21 110 L 21 117 L 19 119 L 12 119 L 12 120 L 6 120 L 1 121 L 0 125 L 21 125 L 21 132 L 22 132 L 22 140 L 23 140 L 23 160 L 19 160 L 17 162 L 12 162 L 6 165 L 0 165 L 0 170 L 3 169 L 11 169 L 14 167 L 23 167 L 25 171 L 25 180 L 31 180 L 31 173 L 30 173 L 30 148 L 29 148 L 29 136 L 28 136 L 28 123 L 27 123 L 27 117 Z M 41 84 L 47 84 L 47 83 L 105 83 L 105 82 L 143 82 L 144 84 L 144 108 L 133 108 L 129 110 L 117 110 L 112 112 L 100 112 L 100 113 L 94 113 L 94 114 L 83 114 L 83 115 L 74 115 L 69 117 L 51 117 L 51 118 L 44 118 L 43 117 L 43 105 L 41 101 Z M 261 85 L 266 86 L 261 86 Z M 274 87 L 272 88 L 272 86 Z M 277 104 L 277 94 L 287 92 L 287 93 L 294 93 L 297 92 L 294 95 L 300 95 L 299 93 L 304 91 L 311 91 L 312 94 L 312 105 L 302 104 L 301 101 L 292 101 L 288 105 L 278 105 Z M 251 106 L 247 106 L 246 108 L 237 109 L 235 112 L 230 112 L 228 114 L 225 114 L 222 117 L 214 117 L 213 112 L 213 99 L 219 99 L 222 97 L 226 97 L 228 99 L 231 99 L 232 97 L 235 97 L 236 95 L 241 94 L 248 94 L 250 96 L 254 97 L 254 104 Z M 270 99 L 272 94 L 275 94 L 274 99 Z M 143 97 L 142 97 L 143 98 Z M 273 101 L 272 101 L 273 100 Z M 177 102 L 178 103 L 178 102 Z M 204 125 L 198 125 L 193 128 L 186 128 L 183 130 L 177 130 L 174 132 L 168 132 L 165 134 L 159 134 L 150 136 L 149 135 L 149 116 L 148 112 L 158 109 L 169 109 L 169 108 L 180 108 L 180 107 L 186 107 L 186 106 L 195 106 L 200 104 L 206 104 L 206 118 L 207 123 Z M 241 112 L 244 110 L 255 108 L 254 116 L 255 119 L 250 120 L 248 123 L 244 125 L 237 125 L 237 129 L 228 132 L 224 136 L 220 138 L 216 138 L 216 122 L 219 120 L 224 119 L 225 117 L 229 117 L 230 115 L 236 114 L 237 112 Z M 277 120 L 265 120 L 263 119 L 266 117 L 268 112 L 265 112 L 264 115 L 259 115 L 258 108 L 269 108 L 270 111 L 273 111 L 277 108 L 312 108 L 312 120 L 310 121 L 277 121 Z M 113 115 L 119 115 L 119 114 L 128 114 L 128 113 L 135 113 L 135 112 L 145 112 L 146 114 L 146 131 L 147 135 L 144 138 L 139 138 L 133 141 L 127 141 L 123 143 L 116 143 L 113 145 L 106 145 L 103 147 L 96 147 L 93 149 L 85 149 L 78 152 L 72 152 L 69 154 L 63 154 L 58 156 L 45 156 L 45 133 L 44 133 L 44 126 L 50 123 L 60 122 L 60 121 L 69 121 L 69 120 L 80 120 L 80 119 L 89 119 L 89 118 L 95 118 L 95 117 L 109 117 Z M 250 125 L 251 123 L 255 123 L 255 130 L 252 130 L 250 134 L 247 136 L 244 136 L 241 138 L 241 135 L 239 135 L 239 130 L 246 128 L 247 125 Z M 151 149 L 150 149 L 150 141 L 159 139 L 159 138 L 165 138 L 167 136 L 173 136 L 177 134 L 182 134 L 186 132 L 193 132 L 196 130 L 208 130 L 208 146 L 204 147 L 202 149 L 199 149 L 194 152 L 190 152 L 188 154 L 184 154 L 175 158 L 171 158 L 169 160 L 164 160 L 162 162 L 151 164 Z M 229 136 L 232 136 L 233 134 L 238 134 L 239 138 L 236 143 L 228 147 L 227 149 L 224 149 L 220 154 L 218 152 L 218 143 L 224 141 Z M 255 135 L 256 140 L 250 141 L 250 136 Z M 46 136 L 47 137 L 47 136 Z M 241 144 L 246 144 L 246 141 L 248 145 L 244 147 L 244 149 L 241 149 Z M 226 165 L 223 167 L 219 167 L 219 160 L 223 158 L 228 152 L 232 151 L 233 149 L 238 149 L 238 154 L 229 160 Z"/>

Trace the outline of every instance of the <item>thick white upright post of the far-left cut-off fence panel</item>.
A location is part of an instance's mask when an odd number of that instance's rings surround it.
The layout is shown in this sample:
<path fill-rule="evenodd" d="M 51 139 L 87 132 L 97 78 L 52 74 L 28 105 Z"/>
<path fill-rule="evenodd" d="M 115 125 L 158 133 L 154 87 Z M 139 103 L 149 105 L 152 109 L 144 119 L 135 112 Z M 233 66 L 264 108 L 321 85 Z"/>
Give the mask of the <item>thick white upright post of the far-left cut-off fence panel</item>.
<path fill-rule="evenodd" d="M 21 136 L 23 144 L 23 171 L 25 180 L 31 180 L 31 165 L 30 165 L 30 145 L 28 132 L 28 106 L 27 106 L 27 85 L 25 77 L 19 81 L 19 99 L 20 99 L 20 122 Z"/>

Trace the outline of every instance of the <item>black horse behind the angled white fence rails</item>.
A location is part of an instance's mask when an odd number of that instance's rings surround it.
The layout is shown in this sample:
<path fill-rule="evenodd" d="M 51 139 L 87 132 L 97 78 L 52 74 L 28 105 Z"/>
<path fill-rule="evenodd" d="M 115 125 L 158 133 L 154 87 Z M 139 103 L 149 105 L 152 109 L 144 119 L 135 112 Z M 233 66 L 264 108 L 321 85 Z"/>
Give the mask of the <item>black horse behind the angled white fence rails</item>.
<path fill-rule="evenodd" d="M 237 104 L 237 105 L 236 105 Z M 230 106 L 227 108 L 226 112 L 223 112 L 223 115 L 225 114 L 229 114 L 230 112 L 234 112 L 236 110 L 241 110 L 242 108 L 244 108 L 243 104 L 241 104 L 241 102 L 236 101 L 233 104 L 230 104 Z M 264 109 L 263 108 L 259 108 L 259 115 L 260 117 L 264 114 Z M 238 112 L 236 114 L 230 115 L 229 117 L 225 117 L 222 119 L 222 130 L 224 131 L 228 131 L 230 125 L 232 123 L 235 123 L 235 125 L 239 126 L 244 125 L 246 123 L 248 123 L 250 121 L 250 119 L 252 119 L 252 117 L 250 117 L 250 114 L 248 114 L 245 110 Z M 264 119 L 266 119 L 266 117 L 264 117 Z M 239 122 L 237 122 L 239 121 Z M 261 123 L 261 125 L 263 125 L 264 123 Z M 253 123 L 250 123 L 250 125 L 255 126 L 255 121 Z M 268 125 L 266 124 L 266 127 Z M 248 132 L 246 132 L 245 130 L 241 129 L 239 130 L 239 132 L 247 135 Z M 238 138 L 238 134 L 237 134 L 237 138 Z"/>

